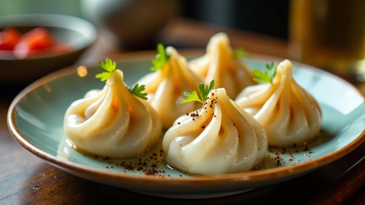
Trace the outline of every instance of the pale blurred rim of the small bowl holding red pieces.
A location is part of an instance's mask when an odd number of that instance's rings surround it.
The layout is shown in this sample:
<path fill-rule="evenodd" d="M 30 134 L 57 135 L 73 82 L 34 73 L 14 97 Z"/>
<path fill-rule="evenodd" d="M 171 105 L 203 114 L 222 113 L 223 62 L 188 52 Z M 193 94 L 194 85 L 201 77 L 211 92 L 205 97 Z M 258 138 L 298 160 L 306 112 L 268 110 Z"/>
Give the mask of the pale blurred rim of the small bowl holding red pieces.
<path fill-rule="evenodd" d="M 54 28 L 64 28 L 78 32 L 83 36 L 82 42 L 77 42 L 78 45 L 71 51 L 60 54 L 50 54 L 50 55 L 39 55 L 27 58 L 1 58 L 1 61 L 22 61 L 28 59 L 42 59 L 55 57 L 60 55 L 65 55 L 69 53 L 74 53 L 87 47 L 91 46 L 96 42 L 97 30 L 96 27 L 85 19 L 78 18 L 76 16 L 68 16 L 62 14 L 50 14 L 50 13 L 25 13 L 25 14 L 11 14 L 0 16 L 0 28 L 5 27 L 21 27 L 21 26 L 35 26 L 35 27 L 54 27 Z M 77 26 L 70 26 L 69 22 L 74 22 Z M 74 42 L 73 42 L 74 43 Z M 3 53 L 9 53 L 12 51 L 1 51 Z"/>

